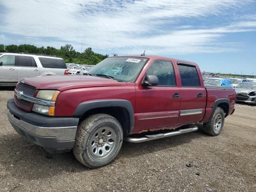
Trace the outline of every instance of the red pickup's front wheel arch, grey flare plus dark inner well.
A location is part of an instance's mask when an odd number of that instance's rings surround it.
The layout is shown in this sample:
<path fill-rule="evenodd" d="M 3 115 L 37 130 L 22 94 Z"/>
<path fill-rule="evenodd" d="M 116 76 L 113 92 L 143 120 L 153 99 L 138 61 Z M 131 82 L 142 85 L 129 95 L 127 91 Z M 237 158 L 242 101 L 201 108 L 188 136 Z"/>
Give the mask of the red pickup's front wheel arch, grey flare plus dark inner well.
<path fill-rule="evenodd" d="M 123 99 L 93 100 L 79 104 L 74 116 L 85 119 L 90 115 L 105 113 L 116 118 L 124 132 L 124 137 L 129 135 L 134 128 L 134 111 L 132 103 Z"/>

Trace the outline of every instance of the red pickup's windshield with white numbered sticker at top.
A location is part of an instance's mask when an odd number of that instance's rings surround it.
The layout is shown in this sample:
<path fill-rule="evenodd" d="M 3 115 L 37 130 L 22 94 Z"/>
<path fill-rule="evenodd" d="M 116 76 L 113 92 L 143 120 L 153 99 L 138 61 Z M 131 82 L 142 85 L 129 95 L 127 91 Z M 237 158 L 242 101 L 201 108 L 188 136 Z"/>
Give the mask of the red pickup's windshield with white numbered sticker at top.
<path fill-rule="evenodd" d="M 118 81 L 134 82 L 147 62 L 140 57 L 110 57 L 99 62 L 88 71 L 93 76 L 107 75 Z M 102 76 L 106 78 L 106 76 Z"/>

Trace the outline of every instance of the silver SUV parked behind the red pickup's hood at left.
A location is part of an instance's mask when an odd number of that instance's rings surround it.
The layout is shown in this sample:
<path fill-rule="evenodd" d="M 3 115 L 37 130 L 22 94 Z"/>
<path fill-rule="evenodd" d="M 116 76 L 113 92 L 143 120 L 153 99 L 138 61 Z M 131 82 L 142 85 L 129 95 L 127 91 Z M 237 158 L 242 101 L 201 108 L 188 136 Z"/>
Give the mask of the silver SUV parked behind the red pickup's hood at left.
<path fill-rule="evenodd" d="M 68 74 L 62 58 L 42 54 L 0 53 L 0 85 L 16 85 L 26 77 Z"/>

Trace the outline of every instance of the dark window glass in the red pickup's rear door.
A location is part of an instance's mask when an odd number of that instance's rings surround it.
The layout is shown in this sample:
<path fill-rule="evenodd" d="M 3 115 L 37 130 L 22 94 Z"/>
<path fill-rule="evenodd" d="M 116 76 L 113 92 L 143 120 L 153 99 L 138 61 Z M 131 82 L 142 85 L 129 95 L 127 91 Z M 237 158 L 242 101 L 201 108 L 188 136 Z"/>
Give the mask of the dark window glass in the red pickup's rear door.
<path fill-rule="evenodd" d="M 198 73 L 195 66 L 178 64 L 182 86 L 200 86 Z"/>

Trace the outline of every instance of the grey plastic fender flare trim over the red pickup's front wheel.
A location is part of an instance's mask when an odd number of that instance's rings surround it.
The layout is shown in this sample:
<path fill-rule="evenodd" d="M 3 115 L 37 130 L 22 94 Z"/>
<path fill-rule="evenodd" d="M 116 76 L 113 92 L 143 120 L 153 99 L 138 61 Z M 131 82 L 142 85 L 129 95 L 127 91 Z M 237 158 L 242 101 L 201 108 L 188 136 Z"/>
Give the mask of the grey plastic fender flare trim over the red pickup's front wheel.
<path fill-rule="evenodd" d="M 80 103 L 74 112 L 74 116 L 81 117 L 84 113 L 91 109 L 104 108 L 104 107 L 122 107 L 128 111 L 130 118 L 130 126 L 128 134 L 130 134 L 134 128 L 134 111 L 132 103 L 124 99 L 106 99 L 106 100 L 92 100 Z"/>

